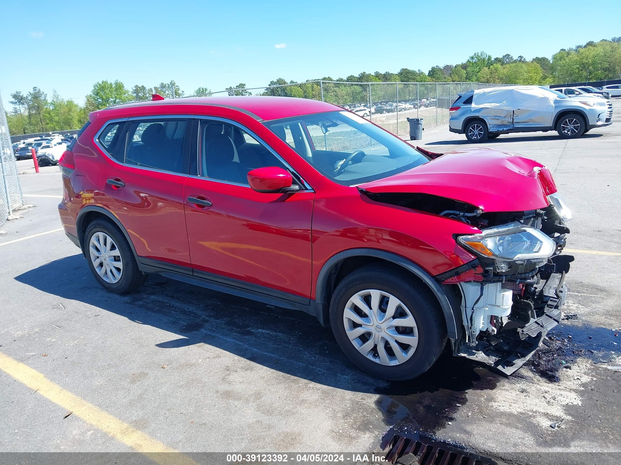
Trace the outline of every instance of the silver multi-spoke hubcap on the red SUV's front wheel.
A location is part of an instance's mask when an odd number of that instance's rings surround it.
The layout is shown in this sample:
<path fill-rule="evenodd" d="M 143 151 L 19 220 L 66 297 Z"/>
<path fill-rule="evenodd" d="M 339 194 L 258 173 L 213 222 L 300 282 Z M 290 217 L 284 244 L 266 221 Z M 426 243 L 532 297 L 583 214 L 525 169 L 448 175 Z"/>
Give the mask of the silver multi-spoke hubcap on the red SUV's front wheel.
<path fill-rule="evenodd" d="M 376 289 L 360 291 L 343 312 L 345 332 L 354 347 L 380 365 L 400 365 L 414 355 L 419 330 L 407 307 Z"/>

